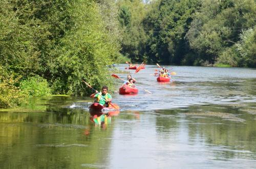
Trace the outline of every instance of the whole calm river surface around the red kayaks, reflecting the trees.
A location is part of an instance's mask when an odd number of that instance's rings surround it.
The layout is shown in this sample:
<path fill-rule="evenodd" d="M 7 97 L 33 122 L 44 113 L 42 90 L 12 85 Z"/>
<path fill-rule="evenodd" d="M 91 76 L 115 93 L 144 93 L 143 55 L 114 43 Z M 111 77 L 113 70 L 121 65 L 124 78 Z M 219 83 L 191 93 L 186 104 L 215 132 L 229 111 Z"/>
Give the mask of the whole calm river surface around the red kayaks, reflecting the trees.
<path fill-rule="evenodd" d="M 67 96 L 1 110 L 0 168 L 255 168 L 256 69 L 165 66 L 177 75 L 159 83 L 155 65 L 125 66 L 152 94 L 119 95 L 113 79 L 108 116 Z"/>

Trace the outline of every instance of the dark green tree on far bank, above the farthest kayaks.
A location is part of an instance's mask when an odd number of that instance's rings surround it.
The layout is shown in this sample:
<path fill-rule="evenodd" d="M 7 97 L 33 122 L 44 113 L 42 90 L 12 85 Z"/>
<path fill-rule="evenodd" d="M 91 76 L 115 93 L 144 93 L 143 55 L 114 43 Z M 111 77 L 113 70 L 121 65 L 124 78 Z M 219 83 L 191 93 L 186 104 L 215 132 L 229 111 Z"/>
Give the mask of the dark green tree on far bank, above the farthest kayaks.
<path fill-rule="evenodd" d="M 200 1 L 162 0 L 154 4 L 144 21 L 148 30 L 146 53 L 151 62 L 180 64 L 189 46 L 185 40 L 191 15 Z"/>

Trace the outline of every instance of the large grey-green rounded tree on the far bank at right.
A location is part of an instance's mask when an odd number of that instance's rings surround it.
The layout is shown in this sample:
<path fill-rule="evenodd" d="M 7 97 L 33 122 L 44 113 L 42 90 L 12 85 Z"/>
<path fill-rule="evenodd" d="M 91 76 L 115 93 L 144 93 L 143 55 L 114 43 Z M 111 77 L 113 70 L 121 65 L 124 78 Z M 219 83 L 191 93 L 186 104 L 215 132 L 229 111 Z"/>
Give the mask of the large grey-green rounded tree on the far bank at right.
<path fill-rule="evenodd" d="M 186 35 L 189 46 L 198 54 L 194 64 L 218 61 L 241 65 L 241 56 L 233 45 L 241 40 L 243 29 L 255 25 L 255 10 L 256 4 L 251 0 L 203 1 Z"/>

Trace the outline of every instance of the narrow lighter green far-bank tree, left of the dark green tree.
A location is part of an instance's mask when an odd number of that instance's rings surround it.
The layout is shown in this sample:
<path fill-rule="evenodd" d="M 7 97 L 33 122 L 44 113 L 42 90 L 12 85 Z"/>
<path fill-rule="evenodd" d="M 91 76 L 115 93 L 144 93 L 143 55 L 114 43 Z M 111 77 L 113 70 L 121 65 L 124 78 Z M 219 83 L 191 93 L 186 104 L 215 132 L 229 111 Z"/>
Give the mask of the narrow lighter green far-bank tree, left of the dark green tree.
<path fill-rule="evenodd" d="M 146 34 L 143 19 L 146 15 L 147 4 L 143 1 L 119 0 L 119 22 L 122 27 L 121 53 L 133 61 L 145 59 Z"/>

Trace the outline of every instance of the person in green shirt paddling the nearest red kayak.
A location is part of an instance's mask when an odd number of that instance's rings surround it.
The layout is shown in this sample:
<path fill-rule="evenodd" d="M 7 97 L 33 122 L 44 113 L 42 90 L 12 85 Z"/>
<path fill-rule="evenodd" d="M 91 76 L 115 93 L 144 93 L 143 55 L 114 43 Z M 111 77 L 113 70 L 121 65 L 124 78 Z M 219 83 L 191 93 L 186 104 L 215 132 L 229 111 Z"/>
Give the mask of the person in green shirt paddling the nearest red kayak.
<path fill-rule="evenodd" d="M 90 98 L 95 98 L 95 103 L 99 103 L 102 106 L 109 107 L 109 102 L 112 100 L 112 96 L 108 93 L 108 87 L 103 86 L 101 92 L 97 90 L 90 95 Z"/>

